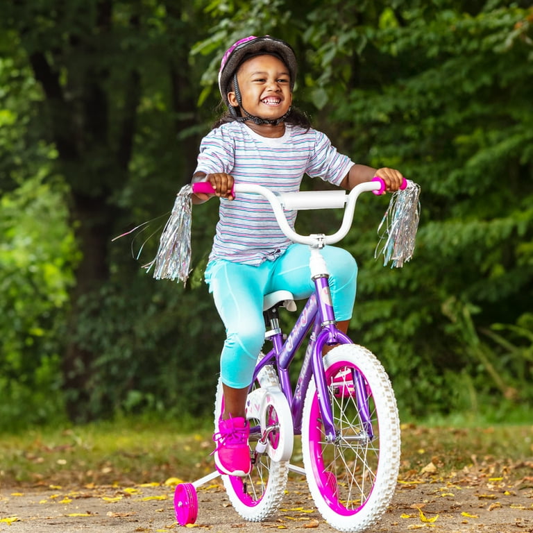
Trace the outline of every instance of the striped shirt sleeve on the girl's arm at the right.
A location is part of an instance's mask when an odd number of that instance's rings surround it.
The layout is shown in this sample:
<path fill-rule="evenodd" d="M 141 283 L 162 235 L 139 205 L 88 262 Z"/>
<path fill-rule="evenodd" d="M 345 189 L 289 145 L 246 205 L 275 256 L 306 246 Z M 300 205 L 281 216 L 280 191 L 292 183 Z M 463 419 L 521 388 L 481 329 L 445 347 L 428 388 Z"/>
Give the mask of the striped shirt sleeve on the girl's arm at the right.
<path fill-rule="evenodd" d="M 337 151 L 330 139 L 316 131 L 315 150 L 305 170 L 312 178 L 322 178 L 333 185 L 340 185 L 354 162 Z"/>

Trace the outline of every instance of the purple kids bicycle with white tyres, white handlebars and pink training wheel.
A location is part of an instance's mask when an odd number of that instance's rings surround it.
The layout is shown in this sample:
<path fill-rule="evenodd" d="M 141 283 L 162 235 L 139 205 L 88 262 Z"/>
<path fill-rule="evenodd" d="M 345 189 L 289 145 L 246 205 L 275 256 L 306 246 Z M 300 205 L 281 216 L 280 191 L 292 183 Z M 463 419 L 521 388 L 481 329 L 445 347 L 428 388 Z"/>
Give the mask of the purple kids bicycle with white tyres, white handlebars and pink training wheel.
<path fill-rule="evenodd" d="M 407 185 L 404 182 L 403 187 Z M 194 192 L 213 192 L 196 183 Z M 400 423 L 391 382 L 378 359 L 337 329 L 328 267 L 321 255 L 325 244 L 343 239 L 353 221 L 362 192 L 384 192 L 384 182 L 344 190 L 274 194 L 260 185 L 235 185 L 235 194 L 261 194 L 272 206 L 282 231 L 293 242 L 310 246 L 315 290 L 294 327 L 284 337 L 278 310 L 296 310 L 289 291 L 264 297 L 265 338 L 272 348 L 257 358 L 248 394 L 246 418 L 253 468 L 246 477 L 222 475 L 228 498 L 247 521 L 264 521 L 280 506 L 289 471 L 305 475 L 310 493 L 326 522 L 337 530 L 360 532 L 384 514 L 396 488 L 400 464 Z M 344 208 L 332 235 L 299 235 L 285 210 Z M 305 339 L 307 347 L 296 383 L 289 369 Z M 323 356 L 325 346 L 334 346 Z M 214 407 L 215 431 L 223 412 L 219 381 Z M 294 435 L 301 434 L 303 468 L 290 463 Z M 180 525 L 196 521 L 196 488 L 219 475 L 213 472 L 176 487 L 174 508 Z"/>

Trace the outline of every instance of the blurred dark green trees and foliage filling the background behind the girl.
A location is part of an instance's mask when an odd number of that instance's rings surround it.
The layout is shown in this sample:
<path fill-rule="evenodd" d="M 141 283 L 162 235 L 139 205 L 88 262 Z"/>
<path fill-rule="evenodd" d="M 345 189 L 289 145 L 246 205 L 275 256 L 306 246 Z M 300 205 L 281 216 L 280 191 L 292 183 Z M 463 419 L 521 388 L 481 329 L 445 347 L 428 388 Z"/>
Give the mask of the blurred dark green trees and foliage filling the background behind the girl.
<path fill-rule="evenodd" d="M 528 2 L 12 0 L 4 11 L 2 425 L 210 412 L 223 326 L 202 271 L 216 204 L 194 210 L 186 287 L 140 267 L 218 112 L 221 54 L 251 34 L 294 46 L 296 104 L 341 151 L 421 185 L 403 269 L 373 257 L 388 198 L 364 198 L 344 242 L 360 267 L 353 338 L 384 362 L 403 416 L 524 416 Z M 299 223 L 316 231 L 324 218 Z M 327 218 L 334 227 L 337 213 Z"/>

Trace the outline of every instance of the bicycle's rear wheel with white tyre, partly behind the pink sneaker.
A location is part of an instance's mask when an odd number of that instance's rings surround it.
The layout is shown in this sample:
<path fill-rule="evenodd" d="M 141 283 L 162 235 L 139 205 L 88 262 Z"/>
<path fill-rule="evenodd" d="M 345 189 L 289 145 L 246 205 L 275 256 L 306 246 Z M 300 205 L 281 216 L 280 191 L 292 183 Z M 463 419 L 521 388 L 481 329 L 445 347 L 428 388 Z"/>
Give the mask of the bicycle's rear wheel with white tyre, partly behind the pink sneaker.
<path fill-rule="evenodd" d="M 258 383 L 256 387 L 251 395 L 262 396 L 263 390 L 258 390 Z M 219 380 L 214 407 L 215 432 L 218 431 L 219 416 L 223 412 L 223 401 L 222 383 Z M 246 418 L 250 424 L 248 442 L 253 466 L 251 473 L 244 477 L 222 476 L 232 506 L 242 518 L 253 522 L 264 521 L 278 510 L 287 486 L 287 452 L 292 448 L 292 423 L 290 446 L 287 444 L 286 428 L 280 430 L 280 421 L 286 421 L 287 416 L 290 420 L 290 411 L 285 410 L 285 407 L 289 409 L 286 400 L 285 404 L 267 400 L 264 407 L 255 410 L 249 405 L 247 407 Z M 280 457 L 284 460 L 276 460 Z"/>

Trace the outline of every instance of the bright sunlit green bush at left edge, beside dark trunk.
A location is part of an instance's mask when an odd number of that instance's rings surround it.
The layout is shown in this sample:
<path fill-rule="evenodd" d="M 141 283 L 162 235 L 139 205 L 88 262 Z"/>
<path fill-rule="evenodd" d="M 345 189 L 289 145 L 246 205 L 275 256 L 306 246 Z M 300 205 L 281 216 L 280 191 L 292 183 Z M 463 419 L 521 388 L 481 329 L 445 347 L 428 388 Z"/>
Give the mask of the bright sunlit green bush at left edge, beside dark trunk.
<path fill-rule="evenodd" d="M 65 189 L 43 178 L 28 177 L 0 199 L 3 429 L 64 417 L 59 334 L 74 284 L 76 247 Z"/>

